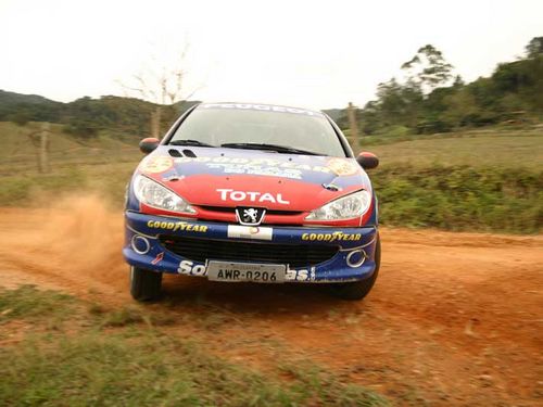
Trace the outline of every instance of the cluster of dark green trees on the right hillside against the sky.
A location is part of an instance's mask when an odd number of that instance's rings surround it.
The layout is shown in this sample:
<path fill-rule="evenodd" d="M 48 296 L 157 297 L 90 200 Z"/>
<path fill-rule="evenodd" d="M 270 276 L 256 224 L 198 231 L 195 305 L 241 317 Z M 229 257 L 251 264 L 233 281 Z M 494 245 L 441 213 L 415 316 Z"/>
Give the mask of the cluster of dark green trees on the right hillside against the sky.
<path fill-rule="evenodd" d="M 402 65 L 403 80 L 379 84 L 377 98 L 358 112 L 365 133 L 403 127 L 417 133 L 502 122 L 543 119 L 543 37 L 526 47 L 527 58 L 501 63 L 491 77 L 466 84 L 433 46 L 421 47 Z M 344 120 L 341 122 L 340 124 Z"/>

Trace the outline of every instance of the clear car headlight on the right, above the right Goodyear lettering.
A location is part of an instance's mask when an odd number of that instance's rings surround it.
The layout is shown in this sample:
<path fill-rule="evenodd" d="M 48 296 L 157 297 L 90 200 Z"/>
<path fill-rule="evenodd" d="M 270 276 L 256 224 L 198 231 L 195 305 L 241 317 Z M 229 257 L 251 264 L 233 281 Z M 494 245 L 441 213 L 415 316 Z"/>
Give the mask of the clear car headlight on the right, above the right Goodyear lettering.
<path fill-rule="evenodd" d="M 343 220 L 362 216 L 369 208 L 371 194 L 358 191 L 329 202 L 305 217 L 307 220 Z"/>

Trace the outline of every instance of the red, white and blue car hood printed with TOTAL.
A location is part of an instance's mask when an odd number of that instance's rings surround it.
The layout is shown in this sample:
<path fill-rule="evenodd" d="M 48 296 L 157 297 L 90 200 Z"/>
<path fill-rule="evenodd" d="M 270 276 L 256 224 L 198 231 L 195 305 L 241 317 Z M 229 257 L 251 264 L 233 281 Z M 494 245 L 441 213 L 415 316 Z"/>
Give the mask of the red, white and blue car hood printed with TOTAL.
<path fill-rule="evenodd" d="M 197 206 L 308 212 L 371 186 L 354 158 L 161 145 L 138 171 Z"/>

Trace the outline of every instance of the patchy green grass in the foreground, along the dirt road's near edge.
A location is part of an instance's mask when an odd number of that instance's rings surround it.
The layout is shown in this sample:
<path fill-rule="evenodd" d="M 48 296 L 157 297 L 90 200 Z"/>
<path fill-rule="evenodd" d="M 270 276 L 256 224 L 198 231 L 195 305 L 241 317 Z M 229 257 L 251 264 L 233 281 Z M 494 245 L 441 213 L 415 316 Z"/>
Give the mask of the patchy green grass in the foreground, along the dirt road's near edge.
<path fill-rule="evenodd" d="M 34 331 L 20 342 L 0 346 L 0 405 L 388 405 L 314 365 L 278 361 L 263 373 L 211 355 L 198 336 L 184 340 L 142 323 L 152 319 L 142 308 L 79 306 L 63 311 L 68 329 L 47 330 L 66 301 L 75 302 L 29 287 L 0 291 L 0 309 L 34 321 Z"/>

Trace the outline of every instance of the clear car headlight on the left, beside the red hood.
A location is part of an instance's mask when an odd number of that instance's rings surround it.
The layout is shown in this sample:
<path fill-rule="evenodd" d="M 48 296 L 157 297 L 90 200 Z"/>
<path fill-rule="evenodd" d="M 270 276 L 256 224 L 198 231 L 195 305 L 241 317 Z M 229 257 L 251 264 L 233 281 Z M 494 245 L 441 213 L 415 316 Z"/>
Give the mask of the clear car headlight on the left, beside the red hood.
<path fill-rule="evenodd" d="M 149 206 L 186 214 L 197 213 L 181 196 L 142 175 L 137 175 L 134 180 L 134 193 L 139 202 Z"/>

